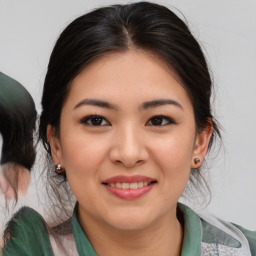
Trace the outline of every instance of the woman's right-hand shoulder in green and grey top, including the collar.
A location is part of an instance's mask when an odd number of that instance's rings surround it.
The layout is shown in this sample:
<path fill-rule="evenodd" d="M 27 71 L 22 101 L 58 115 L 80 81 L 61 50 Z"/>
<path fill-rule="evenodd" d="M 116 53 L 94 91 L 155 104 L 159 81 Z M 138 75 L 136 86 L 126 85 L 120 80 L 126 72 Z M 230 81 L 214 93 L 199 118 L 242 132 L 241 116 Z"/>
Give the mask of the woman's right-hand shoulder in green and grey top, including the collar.
<path fill-rule="evenodd" d="M 198 214 L 180 203 L 178 210 L 184 221 L 183 246 L 187 243 L 189 251 L 196 247 L 201 256 L 256 256 L 256 232 L 208 213 Z"/>

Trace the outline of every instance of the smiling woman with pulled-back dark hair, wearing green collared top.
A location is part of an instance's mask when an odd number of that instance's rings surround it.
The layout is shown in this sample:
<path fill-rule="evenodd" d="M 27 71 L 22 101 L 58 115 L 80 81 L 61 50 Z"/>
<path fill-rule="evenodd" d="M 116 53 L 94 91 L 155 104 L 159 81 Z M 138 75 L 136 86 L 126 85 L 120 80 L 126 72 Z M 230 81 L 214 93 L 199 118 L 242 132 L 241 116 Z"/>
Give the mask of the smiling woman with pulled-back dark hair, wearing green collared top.
<path fill-rule="evenodd" d="M 211 91 L 199 44 L 163 6 L 72 22 L 50 58 L 39 136 L 62 206 L 69 188 L 77 204 L 54 228 L 22 209 L 4 255 L 255 255 L 255 233 L 178 203 L 219 135 Z"/>

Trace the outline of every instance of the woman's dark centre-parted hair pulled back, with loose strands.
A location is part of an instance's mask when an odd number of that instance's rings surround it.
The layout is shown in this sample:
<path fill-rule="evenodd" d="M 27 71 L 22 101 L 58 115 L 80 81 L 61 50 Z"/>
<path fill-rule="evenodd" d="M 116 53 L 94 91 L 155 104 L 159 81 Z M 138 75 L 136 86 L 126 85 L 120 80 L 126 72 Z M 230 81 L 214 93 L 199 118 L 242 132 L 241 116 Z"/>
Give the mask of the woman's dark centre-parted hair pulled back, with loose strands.
<path fill-rule="evenodd" d="M 220 137 L 212 116 L 213 85 L 204 54 L 188 26 L 171 10 L 154 3 L 138 2 L 99 8 L 77 18 L 61 33 L 52 51 L 39 126 L 39 139 L 48 155 L 47 183 L 53 192 L 52 204 L 59 203 L 59 213 L 66 217 L 70 217 L 70 210 L 73 210 L 72 196 L 65 174 L 55 173 L 47 125 L 52 125 L 58 136 L 60 115 L 70 85 L 86 65 L 107 54 L 137 49 L 158 56 L 179 75 L 193 105 L 197 131 L 202 131 L 209 122 L 213 124 L 209 149 L 215 138 Z M 192 170 L 190 176 L 190 185 L 200 190 L 205 184 L 200 168 Z"/>

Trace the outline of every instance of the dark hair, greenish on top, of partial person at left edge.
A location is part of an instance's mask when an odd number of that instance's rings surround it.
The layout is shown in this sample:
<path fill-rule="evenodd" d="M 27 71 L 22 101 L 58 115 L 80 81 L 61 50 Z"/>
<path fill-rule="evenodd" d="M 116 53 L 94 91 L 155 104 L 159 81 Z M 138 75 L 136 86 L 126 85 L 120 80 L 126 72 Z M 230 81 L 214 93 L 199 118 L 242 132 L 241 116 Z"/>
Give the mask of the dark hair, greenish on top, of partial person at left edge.
<path fill-rule="evenodd" d="M 20 83 L 0 72 L 0 133 L 3 138 L 1 165 L 11 163 L 13 168 L 21 165 L 31 170 L 36 157 L 33 137 L 36 119 L 35 103 L 29 92 Z M 12 180 L 8 179 L 8 175 L 5 177 L 14 189 L 17 202 L 18 176 Z"/>

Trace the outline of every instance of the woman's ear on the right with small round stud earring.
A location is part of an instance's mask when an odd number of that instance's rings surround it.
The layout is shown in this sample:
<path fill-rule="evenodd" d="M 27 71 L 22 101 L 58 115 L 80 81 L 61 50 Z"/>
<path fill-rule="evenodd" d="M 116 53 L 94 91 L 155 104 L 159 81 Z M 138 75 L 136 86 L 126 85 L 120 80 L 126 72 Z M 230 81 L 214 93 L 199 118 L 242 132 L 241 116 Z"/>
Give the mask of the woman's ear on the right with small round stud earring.
<path fill-rule="evenodd" d="M 198 133 L 195 138 L 191 168 L 198 168 L 201 166 L 204 157 L 207 153 L 208 145 L 211 139 L 213 130 L 212 120 L 208 120 L 208 124 L 203 131 Z M 199 159 L 199 161 L 198 161 Z"/>

